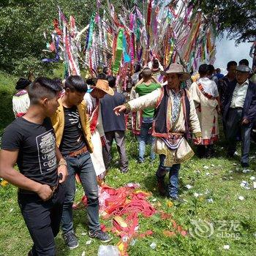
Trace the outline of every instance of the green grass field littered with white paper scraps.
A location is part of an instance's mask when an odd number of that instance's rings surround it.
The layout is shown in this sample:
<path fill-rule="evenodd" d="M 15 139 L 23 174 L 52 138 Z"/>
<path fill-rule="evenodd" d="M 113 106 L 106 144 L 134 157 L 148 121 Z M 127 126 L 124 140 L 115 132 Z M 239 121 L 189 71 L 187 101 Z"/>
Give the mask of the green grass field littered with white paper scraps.
<path fill-rule="evenodd" d="M 13 78 L 8 80 L 9 83 L 10 81 L 12 82 Z M 10 95 L 6 94 L 4 101 L 9 99 L 11 99 Z M 12 120 L 10 106 L 10 102 L 1 100 L 1 108 L 6 111 L 4 112 L 6 114 L 1 113 L 1 118 L 4 118 L 3 123 L 1 119 L 1 131 Z M 191 234 L 186 237 L 166 237 L 163 231 L 173 230 L 169 219 L 162 220 L 159 214 L 148 219 L 140 216 L 138 232 L 153 230 L 154 234 L 146 238 L 136 238 L 135 244 L 129 246 L 129 255 L 256 255 L 256 189 L 252 189 L 253 181 L 250 180 L 251 176 L 256 176 L 255 159 L 251 159 L 249 168 L 251 171 L 243 173 L 239 165 L 239 157 L 232 160 L 225 158 L 223 140 L 217 144 L 216 151 L 217 157 L 215 158 L 197 159 L 193 157 L 181 166 L 179 193 L 187 200 L 187 203 L 170 207 L 167 198 L 159 196 L 157 192 L 155 171 L 158 159 L 153 165 L 149 161 L 138 165 L 135 162 L 137 142 L 132 135 L 127 134 L 129 173 L 119 173 L 118 169 L 113 166 L 106 178 L 106 184 L 117 188 L 128 182 L 138 182 L 141 189 L 152 193 L 148 200 L 158 211 L 173 214 L 173 219 L 178 225 L 190 230 Z M 255 151 L 255 146 L 252 145 L 252 157 L 255 157 Z M 115 146 L 113 146 L 113 155 L 113 162 L 116 162 L 118 154 Z M 242 181 L 248 181 L 251 189 L 242 188 L 240 186 Z M 188 184 L 192 186 L 191 189 L 187 189 Z M 202 195 L 196 197 L 195 193 Z M 79 200 L 82 195 L 83 189 L 78 186 L 76 199 Z M 244 200 L 238 200 L 239 196 L 243 196 Z M 0 187 L 0 198 L 0 255 L 27 255 L 32 242 L 18 208 L 17 189 L 10 184 L 7 187 Z M 89 236 L 84 234 L 88 231 L 86 211 L 76 210 L 74 219 L 80 246 L 74 250 L 67 249 L 59 234 L 56 238 L 57 255 L 80 256 L 83 251 L 85 255 L 97 255 L 101 244 L 99 241 L 92 241 L 90 245 L 86 245 L 86 241 L 89 240 Z M 195 227 L 193 224 L 195 222 L 200 227 Z M 102 223 L 107 226 L 112 224 L 110 220 L 102 220 Z M 212 234 L 208 237 L 210 231 Z M 119 238 L 113 235 L 113 241 L 110 244 L 117 244 L 118 241 Z M 153 242 L 157 244 L 155 249 L 150 247 Z M 225 245 L 229 245 L 230 249 L 224 249 Z"/>

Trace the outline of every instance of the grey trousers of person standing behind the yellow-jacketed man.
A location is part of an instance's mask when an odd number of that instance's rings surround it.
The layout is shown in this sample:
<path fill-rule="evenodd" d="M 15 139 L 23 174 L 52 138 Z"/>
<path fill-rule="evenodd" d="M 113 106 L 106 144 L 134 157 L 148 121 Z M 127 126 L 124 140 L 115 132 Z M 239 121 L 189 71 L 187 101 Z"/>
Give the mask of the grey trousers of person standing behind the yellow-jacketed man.
<path fill-rule="evenodd" d="M 122 173 L 126 173 L 128 171 L 128 159 L 125 150 L 125 132 L 124 131 L 112 131 L 105 132 L 105 138 L 107 140 L 106 146 L 102 148 L 103 159 L 105 163 L 105 167 L 108 169 L 111 162 L 111 146 L 113 140 L 116 141 L 117 151 L 120 157 L 119 165 Z"/>

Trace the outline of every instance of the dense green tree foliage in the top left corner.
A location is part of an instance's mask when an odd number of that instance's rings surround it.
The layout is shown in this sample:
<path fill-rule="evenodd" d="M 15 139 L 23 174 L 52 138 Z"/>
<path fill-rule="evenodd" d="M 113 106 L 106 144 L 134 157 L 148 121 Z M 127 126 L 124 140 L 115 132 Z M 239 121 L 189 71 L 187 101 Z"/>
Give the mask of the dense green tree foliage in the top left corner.
<path fill-rule="evenodd" d="M 0 68 L 18 75 L 35 75 L 53 68 L 53 64 L 43 64 L 42 49 L 53 31 L 53 18 L 58 18 L 58 5 L 69 17 L 74 15 L 78 24 L 89 23 L 96 4 L 86 0 L 2 0 L 0 3 Z M 49 37 L 50 40 L 50 37 Z"/>

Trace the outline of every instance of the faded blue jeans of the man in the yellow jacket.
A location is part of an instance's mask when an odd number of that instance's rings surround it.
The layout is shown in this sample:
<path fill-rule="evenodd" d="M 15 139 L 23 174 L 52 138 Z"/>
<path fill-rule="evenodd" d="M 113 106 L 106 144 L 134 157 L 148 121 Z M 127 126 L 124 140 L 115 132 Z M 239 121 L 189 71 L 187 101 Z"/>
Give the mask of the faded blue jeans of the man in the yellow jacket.
<path fill-rule="evenodd" d="M 61 228 L 64 233 L 69 233 L 73 230 L 72 205 L 75 198 L 75 174 L 78 173 L 88 202 L 87 215 L 89 229 L 92 231 L 100 230 L 97 177 L 90 154 L 89 152 L 85 152 L 77 157 L 67 156 L 64 158 L 67 161 L 69 175 L 64 184 L 65 200 L 61 217 Z"/>

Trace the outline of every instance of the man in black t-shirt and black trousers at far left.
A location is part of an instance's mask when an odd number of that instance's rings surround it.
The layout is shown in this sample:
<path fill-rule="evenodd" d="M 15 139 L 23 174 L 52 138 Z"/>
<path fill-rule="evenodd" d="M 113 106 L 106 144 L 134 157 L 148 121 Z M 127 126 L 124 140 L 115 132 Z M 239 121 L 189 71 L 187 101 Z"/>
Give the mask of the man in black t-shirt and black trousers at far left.
<path fill-rule="evenodd" d="M 0 177 L 19 188 L 18 203 L 34 241 L 29 255 L 56 255 L 54 237 L 61 222 L 67 162 L 56 146 L 49 117 L 59 106 L 60 90 L 53 80 L 37 78 L 29 85 L 29 110 L 2 137 Z"/>

